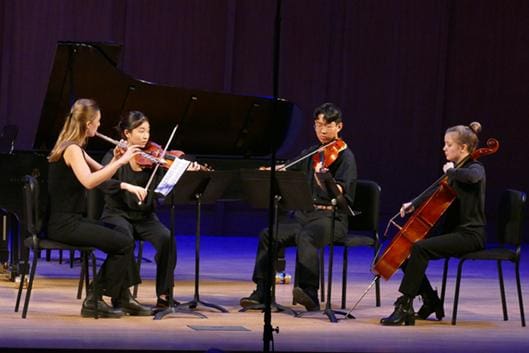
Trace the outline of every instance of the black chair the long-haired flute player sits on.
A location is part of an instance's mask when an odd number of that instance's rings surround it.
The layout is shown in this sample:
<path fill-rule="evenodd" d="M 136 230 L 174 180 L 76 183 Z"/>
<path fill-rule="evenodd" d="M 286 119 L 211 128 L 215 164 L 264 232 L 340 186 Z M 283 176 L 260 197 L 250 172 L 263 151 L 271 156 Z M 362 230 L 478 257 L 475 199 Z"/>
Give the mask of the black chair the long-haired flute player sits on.
<path fill-rule="evenodd" d="M 29 282 L 26 290 L 26 297 L 24 300 L 24 308 L 22 309 L 22 318 L 25 319 L 28 312 L 29 300 L 31 298 L 31 290 L 33 288 L 33 280 L 35 279 L 35 272 L 37 270 L 37 263 L 39 259 L 40 252 L 42 250 L 67 250 L 75 251 L 78 250 L 82 254 L 82 268 L 81 268 L 81 278 L 84 279 L 86 283 L 86 292 L 88 292 L 88 259 L 92 259 L 92 269 L 93 269 L 93 278 L 96 276 L 95 269 L 95 257 L 94 257 L 94 248 L 86 246 L 72 246 L 69 244 L 41 238 L 43 236 L 43 226 L 45 224 L 44 212 L 40 207 L 41 200 L 46 200 L 47 196 L 44 194 L 41 195 L 39 183 L 36 178 L 26 175 L 23 178 L 24 180 L 24 190 L 23 190 L 23 225 L 27 230 L 30 237 L 27 237 L 24 240 L 24 245 L 28 248 L 29 251 L 26 251 L 24 256 L 23 268 L 28 267 L 29 255 L 33 253 L 33 260 L 31 263 L 31 269 L 29 273 Z M 21 273 L 20 285 L 18 287 L 17 300 L 15 304 L 15 312 L 18 312 L 20 306 L 20 299 L 22 297 L 22 290 L 24 287 L 25 280 L 25 271 Z M 77 298 L 81 299 L 82 293 L 82 281 L 79 281 L 79 286 L 77 288 Z"/>

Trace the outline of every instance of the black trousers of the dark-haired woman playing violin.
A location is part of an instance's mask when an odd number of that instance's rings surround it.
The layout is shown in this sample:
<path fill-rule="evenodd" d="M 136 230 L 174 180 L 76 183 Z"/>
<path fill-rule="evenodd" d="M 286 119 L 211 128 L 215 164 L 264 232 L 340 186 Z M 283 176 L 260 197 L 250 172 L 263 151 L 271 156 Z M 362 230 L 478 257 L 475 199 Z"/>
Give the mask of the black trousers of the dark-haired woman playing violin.
<path fill-rule="evenodd" d="M 158 216 L 152 213 L 145 219 L 135 221 L 105 210 L 101 220 L 125 229 L 133 242 L 136 239 L 152 244 L 156 250 L 156 296 L 169 294 L 169 289 L 174 285 L 176 246 L 173 243 L 171 248 L 171 232 L 160 222 Z"/>

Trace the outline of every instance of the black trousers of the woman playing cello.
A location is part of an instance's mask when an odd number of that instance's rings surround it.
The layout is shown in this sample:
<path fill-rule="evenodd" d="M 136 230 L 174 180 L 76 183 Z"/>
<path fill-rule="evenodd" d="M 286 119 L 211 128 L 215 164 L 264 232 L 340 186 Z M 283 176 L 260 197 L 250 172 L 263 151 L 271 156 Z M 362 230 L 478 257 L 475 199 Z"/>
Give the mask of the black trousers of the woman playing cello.
<path fill-rule="evenodd" d="M 411 248 L 410 257 L 401 267 L 404 277 L 399 291 L 410 297 L 417 295 L 430 296 L 433 288 L 426 277 L 426 268 L 430 260 L 461 256 L 466 253 L 481 250 L 484 242 L 478 234 L 447 233 L 419 240 Z"/>

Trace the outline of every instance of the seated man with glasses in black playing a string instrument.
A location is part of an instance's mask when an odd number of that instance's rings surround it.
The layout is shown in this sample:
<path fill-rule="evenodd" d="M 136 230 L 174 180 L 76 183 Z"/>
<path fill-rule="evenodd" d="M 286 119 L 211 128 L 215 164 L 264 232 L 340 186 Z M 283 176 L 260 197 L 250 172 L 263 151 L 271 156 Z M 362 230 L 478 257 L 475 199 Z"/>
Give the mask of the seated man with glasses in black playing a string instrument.
<path fill-rule="evenodd" d="M 338 107 L 332 103 L 325 103 L 317 107 L 314 111 L 314 130 L 319 145 L 313 146 L 310 150 L 315 151 L 318 147 L 331 141 L 338 140 L 338 134 L 343 128 L 342 113 Z M 339 140 L 341 141 L 341 140 Z M 342 141 L 343 142 L 343 141 Z M 356 162 L 353 153 L 347 145 L 343 144 L 343 149 L 336 156 L 336 160 L 330 164 L 328 172 L 334 177 L 337 187 L 344 195 L 353 195 L 356 187 Z M 318 153 L 318 158 L 321 153 Z M 332 210 L 331 197 L 323 190 L 315 180 L 315 172 L 323 172 L 326 169 L 324 161 L 319 161 L 313 165 L 312 159 L 305 159 L 303 170 L 307 172 L 307 178 L 312 189 L 314 209 L 311 211 L 296 211 L 294 222 L 280 221 L 278 231 L 275 234 L 277 247 L 297 246 L 296 274 L 298 278 L 297 287 L 292 294 L 294 300 L 305 306 L 308 311 L 319 310 L 318 287 L 319 287 L 319 257 L 318 249 L 329 244 Z M 350 200 L 352 202 L 352 200 Z M 338 209 L 336 214 L 334 239 L 339 240 L 347 233 L 347 213 Z M 253 272 L 253 281 L 257 288 L 249 297 L 242 298 L 242 307 L 250 307 L 264 303 L 266 290 L 264 280 L 265 275 L 271 269 L 267 268 L 268 263 L 268 229 L 261 232 L 259 246 Z"/>

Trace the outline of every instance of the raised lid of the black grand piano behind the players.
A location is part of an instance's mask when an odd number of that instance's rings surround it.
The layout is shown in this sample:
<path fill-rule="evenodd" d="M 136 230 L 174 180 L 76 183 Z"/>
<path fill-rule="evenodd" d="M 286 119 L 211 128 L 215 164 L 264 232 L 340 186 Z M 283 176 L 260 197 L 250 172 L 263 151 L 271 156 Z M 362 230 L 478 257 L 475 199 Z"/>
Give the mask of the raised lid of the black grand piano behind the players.
<path fill-rule="evenodd" d="M 270 139 L 283 143 L 294 104 L 266 97 L 158 85 L 135 79 L 117 68 L 121 45 L 59 42 L 34 143 L 51 149 L 77 98 L 93 98 L 103 118 L 99 132 L 117 137 L 114 126 L 130 110 L 144 112 L 151 121 L 151 137 L 166 143 L 175 124 L 171 149 L 188 154 L 264 156 Z M 273 119 L 275 118 L 275 122 Z M 108 142 L 90 139 L 88 148 L 108 149 Z"/>

